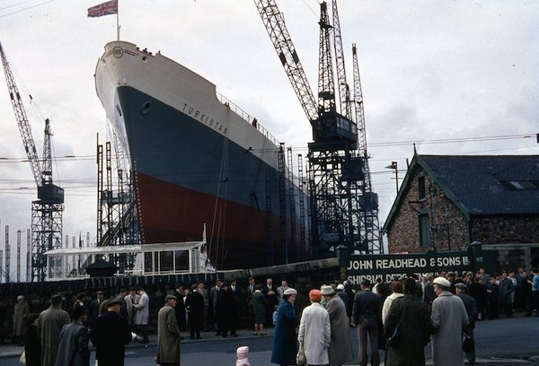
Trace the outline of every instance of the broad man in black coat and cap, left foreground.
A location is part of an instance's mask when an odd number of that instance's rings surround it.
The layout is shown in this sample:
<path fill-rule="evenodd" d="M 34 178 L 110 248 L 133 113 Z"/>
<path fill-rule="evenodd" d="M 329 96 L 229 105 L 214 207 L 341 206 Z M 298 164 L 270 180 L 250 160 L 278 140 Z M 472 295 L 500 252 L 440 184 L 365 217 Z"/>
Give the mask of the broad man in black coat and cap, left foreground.
<path fill-rule="evenodd" d="M 107 301 L 107 312 L 95 319 L 90 339 L 99 366 L 123 366 L 125 346 L 131 342 L 128 319 L 119 315 L 120 302 Z"/>

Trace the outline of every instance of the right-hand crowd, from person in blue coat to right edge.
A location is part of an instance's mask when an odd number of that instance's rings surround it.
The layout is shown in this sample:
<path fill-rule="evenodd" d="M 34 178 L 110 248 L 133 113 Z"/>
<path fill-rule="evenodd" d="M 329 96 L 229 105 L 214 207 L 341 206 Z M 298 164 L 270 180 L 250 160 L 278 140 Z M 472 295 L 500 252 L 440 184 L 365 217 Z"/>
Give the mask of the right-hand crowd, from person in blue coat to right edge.
<path fill-rule="evenodd" d="M 349 327 L 357 327 L 360 366 L 378 366 L 380 350 L 385 365 L 425 365 L 429 343 L 435 366 L 464 365 L 464 357 L 473 365 L 476 321 L 499 318 L 500 311 L 511 318 L 516 306 L 539 316 L 539 273 L 411 274 L 390 283 L 365 280 L 357 292 L 349 281 L 333 283 L 308 293 L 311 305 L 301 317 L 296 296 L 288 289 L 278 307 L 272 363 L 292 365 L 305 356 L 306 365 L 345 364 L 353 357 Z"/>

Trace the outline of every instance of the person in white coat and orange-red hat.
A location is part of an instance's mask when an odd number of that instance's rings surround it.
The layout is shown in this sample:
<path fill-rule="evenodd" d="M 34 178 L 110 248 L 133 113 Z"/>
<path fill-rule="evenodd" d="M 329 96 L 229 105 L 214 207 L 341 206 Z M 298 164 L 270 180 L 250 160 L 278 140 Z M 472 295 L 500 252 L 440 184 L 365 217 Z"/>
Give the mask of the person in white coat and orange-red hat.
<path fill-rule="evenodd" d="M 322 292 L 309 292 L 311 305 L 301 315 L 297 340 L 303 346 L 307 365 L 328 364 L 328 347 L 331 342 L 330 314 L 320 305 Z"/>

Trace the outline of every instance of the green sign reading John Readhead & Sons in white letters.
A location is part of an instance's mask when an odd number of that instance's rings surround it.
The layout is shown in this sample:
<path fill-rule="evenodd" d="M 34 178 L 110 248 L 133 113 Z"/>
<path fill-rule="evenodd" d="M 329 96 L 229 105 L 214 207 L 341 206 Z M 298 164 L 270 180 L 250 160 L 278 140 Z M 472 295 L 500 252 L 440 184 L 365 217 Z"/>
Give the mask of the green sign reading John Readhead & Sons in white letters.
<path fill-rule="evenodd" d="M 376 278 L 390 282 L 394 277 L 408 274 L 435 275 L 440 271 L 462 273 L 473 268 L 468 256 L 467 251 L 349 255 L 346 278 L 352 284 L 359 284 L 363 280 L 374 283 Z"/>

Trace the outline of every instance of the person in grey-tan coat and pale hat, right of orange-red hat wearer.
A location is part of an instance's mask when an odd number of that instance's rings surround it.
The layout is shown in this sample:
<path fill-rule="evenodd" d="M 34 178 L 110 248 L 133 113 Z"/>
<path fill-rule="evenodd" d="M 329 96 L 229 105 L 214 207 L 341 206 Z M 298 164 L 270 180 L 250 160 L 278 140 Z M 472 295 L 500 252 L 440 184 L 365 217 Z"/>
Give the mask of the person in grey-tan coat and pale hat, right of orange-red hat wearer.
<path fill-rule="evenodd" d="M 321 292 L 326 300 L 326 310 L 330 314 L 331 342 L 328 348 L 330 366 L 343 365 L 354 357 L 349 331 L 349 319 L 344 301 L 337 296 L 331 286 L 323 285 Z"/>

